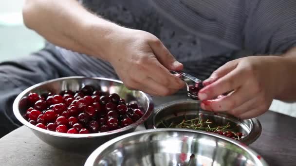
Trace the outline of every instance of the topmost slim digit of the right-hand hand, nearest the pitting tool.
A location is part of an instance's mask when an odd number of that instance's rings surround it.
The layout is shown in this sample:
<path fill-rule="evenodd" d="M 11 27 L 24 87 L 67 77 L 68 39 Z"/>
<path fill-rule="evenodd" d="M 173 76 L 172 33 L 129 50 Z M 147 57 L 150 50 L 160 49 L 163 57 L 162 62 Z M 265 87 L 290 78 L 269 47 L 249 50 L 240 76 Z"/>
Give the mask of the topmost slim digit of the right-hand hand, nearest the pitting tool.
<path fill-rule="evenodd" d="M 218 80 L 220 77 L 223 77 L 224 75 L 226 75 L 227 73 L 229 73 L 230 71 L 235 69 L 237 67 L 237 65 L 238 65 L 238 60 L 227 62 L 226 64 L 224 64 L 223 66 L 221 66 L 217 70 L 215 70 L 211 74 L 211 76 L 208 79 L 204 80 L 203 82 L 206 85 L 213 83 L 216 80 Z"/>

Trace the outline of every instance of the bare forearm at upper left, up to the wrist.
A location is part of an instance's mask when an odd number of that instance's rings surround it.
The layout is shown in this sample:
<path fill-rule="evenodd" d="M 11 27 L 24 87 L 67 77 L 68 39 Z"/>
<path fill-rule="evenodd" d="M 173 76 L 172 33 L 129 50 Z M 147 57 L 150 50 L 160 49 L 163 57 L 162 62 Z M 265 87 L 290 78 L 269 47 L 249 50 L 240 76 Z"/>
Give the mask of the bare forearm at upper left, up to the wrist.
<path fill-rule="evenodd" d="M 119 28 L 88 12 L 76 0 L 26 0 L 25 25 L 58 46 L 107 59 L 110 34 Z"/>

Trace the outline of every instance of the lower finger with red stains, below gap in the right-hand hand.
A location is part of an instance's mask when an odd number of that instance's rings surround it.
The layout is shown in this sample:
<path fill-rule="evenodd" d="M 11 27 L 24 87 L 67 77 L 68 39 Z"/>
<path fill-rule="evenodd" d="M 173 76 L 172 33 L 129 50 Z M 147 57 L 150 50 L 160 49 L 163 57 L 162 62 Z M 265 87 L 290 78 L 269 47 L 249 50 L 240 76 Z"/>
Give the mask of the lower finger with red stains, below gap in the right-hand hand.
<path fill-rule="evenodd" d="M 211 108 L 213 111 L 229 111 L 254 97 L 256 97 L 256 91 L 250 89 L 249 86 L 243 85 L 226 97 L 211 102 Z"/>

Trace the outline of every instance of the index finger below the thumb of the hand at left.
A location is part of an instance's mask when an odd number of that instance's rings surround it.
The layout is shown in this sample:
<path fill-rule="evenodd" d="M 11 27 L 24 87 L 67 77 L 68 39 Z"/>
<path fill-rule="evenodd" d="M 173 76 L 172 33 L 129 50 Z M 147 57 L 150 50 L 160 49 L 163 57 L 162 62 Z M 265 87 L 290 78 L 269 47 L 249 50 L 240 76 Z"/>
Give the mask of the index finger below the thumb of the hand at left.
<path fill-rule="evenodd" d="M 185 86 L 179 77 L 171 74 L 156 58 L 148 62 L 146 69 L 149 77 L 168 88 L 179 90 Z"/>

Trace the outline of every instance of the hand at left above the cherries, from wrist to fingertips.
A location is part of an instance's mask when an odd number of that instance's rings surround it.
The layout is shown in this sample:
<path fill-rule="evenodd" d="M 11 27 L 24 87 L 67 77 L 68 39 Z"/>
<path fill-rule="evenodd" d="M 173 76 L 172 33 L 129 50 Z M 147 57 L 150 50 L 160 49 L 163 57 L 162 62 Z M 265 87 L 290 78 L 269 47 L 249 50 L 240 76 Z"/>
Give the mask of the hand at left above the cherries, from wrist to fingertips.
<path fill-rule="evenodd" d="M 185 83 L 169 72 L 182 70 L 183 65 L 156 36 L 123 27 L 110 35 L 108 61 L 128 89 L 166 96 L 184 87 Z"/>

